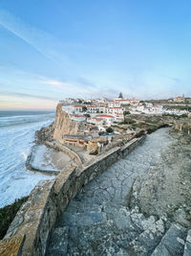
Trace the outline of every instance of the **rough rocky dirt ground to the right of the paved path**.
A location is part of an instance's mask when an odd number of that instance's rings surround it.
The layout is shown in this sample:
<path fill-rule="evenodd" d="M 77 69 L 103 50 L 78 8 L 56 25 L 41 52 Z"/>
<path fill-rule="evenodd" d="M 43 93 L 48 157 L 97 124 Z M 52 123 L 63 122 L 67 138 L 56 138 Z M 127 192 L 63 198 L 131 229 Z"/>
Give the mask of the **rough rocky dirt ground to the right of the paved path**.
<path fill-rule="evenodd" d="M 191 140 L 172 133 L 175 142 L 161 154 L 147 175 L 137 178 L 131 206 L 139 205 L 145 215 L 166 214 L 171 221 L 191 225 Z"/>

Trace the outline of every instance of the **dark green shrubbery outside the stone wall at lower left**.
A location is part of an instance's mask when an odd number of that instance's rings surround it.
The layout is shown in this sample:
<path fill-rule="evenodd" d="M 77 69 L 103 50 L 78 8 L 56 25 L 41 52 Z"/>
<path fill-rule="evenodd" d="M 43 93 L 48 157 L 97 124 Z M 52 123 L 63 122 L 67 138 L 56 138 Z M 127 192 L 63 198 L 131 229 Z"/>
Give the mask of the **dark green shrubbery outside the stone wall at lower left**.
<path fill-rule="evenodd" d="M 11 205 L 7 205 L 0 209 L 0 239 L 3 239 L 6 232 L 13 221 L 19 208 L 28 199 L 28 197 L 15 200 Z"/>

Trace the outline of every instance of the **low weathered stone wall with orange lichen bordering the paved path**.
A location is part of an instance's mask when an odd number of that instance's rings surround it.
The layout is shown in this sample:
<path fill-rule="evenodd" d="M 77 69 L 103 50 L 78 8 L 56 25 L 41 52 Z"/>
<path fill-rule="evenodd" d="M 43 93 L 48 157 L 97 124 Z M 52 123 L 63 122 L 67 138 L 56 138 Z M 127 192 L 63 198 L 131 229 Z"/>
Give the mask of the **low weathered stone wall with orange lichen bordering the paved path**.
<path fill-rule="evenodd" d="M 94 162 L 83 169 L 74 166 L 64 169 L 54 180 L 36 186 L 0 242 L 0 255 L 45 255 L 56 218 L 67 208 L 68 203 L 85 184 L 126 156 L 144 138 L 145 135 L 135 138 L 122 148 L 97 156 Z"/>

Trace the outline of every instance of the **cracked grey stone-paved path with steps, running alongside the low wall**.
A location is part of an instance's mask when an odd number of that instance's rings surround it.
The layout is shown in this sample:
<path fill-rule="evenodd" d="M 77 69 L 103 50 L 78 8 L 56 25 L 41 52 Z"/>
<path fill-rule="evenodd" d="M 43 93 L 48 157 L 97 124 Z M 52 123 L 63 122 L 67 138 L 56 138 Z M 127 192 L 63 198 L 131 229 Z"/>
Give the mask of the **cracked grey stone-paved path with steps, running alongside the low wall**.
<path fill-rule="evenodd" d="M 183 255 L 184 227 L 145 218 L 138 207 L 127 207 L 135 178 L 155 167 L 173 142 L 167 131 L 148 135 L 141 146 L 85 186 L 57 220 L 47 255 Z M 189 236 L 186 244 L 185 250 L 190 248 Z"/>

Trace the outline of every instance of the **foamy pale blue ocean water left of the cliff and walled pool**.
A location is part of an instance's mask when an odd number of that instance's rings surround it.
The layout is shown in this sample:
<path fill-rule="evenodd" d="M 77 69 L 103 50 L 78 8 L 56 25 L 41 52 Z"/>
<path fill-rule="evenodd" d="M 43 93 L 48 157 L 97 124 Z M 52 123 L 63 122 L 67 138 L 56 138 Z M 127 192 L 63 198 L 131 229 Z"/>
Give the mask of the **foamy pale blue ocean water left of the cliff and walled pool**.
<path fill-rule="evenodd" d="M 47 175 L 25 168 L 35 130 L 53 122 L 53 112 L 0 111 L 0 208 L 30 194 Z"/>

